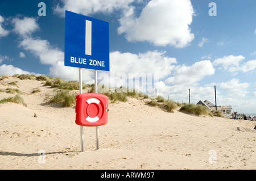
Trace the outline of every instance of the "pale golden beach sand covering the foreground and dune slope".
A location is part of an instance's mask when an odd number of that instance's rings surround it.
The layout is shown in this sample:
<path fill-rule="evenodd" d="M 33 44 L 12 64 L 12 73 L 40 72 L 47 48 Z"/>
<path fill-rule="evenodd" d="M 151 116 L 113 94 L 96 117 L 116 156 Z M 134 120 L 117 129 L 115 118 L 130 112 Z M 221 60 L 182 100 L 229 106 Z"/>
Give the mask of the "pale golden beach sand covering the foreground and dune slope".
<path fill-rule="evenodd" d="M 95 127 L 84 127 L 81 152 L 75 106 L 49 104 L 56 89 L 43 84 L 0 81 L 27 103 L 0 104 L 0 169 L 256 169 L 256 121 L 170 113 L 135 98 L 109 103 L 99 150 Z M 36 87 L 41 91 L 32 94 Z M 0 92 L 0 100 L 9 96 Z"/>

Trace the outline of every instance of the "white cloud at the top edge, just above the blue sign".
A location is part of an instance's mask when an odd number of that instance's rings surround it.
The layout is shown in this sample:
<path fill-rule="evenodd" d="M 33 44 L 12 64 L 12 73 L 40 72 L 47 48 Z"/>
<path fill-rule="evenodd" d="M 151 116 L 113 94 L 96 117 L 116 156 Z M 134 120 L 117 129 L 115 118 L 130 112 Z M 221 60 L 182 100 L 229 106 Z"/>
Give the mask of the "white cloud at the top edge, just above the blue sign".
<path fill-rule="evenodd" d="M 53 11 L 61 17 L 65 16 L 65 10 L 89 15 L 96 12 L 109 13 L 114 10 L 127 9 L 134 0 L 61 0 Z"/>

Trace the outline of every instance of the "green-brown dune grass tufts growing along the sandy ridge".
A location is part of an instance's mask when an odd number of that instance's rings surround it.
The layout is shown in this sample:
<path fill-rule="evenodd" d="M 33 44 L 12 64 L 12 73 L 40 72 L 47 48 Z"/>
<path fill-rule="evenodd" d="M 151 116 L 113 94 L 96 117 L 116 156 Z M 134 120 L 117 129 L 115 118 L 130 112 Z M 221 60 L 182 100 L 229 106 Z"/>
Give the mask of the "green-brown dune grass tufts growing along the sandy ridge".
<path fill-rule="evenodd" d="M 65 81 L 61 78 L 51 78 L 46 75 L 13 75 L 13 77 L 16 77 L 20 80 L 29 79 L 34 81 L 44 81 L 44 86 L 50 86 L 53 89 L 56 89 L 55 95 L 52 95 L 51 98 L 48 100 L 48 103 L 60 103 L 63 107 L 71 107 L 75 105 L 76 103 L 76 95 L 77 92 L 71 92 L 73 90 L 79 90 L 79 82 L 77 81 Z M 5 78 L 8 78 L 7 75 L 0 77 L 0 80 L 3 80 Z M 16 81 L 17 82 L 17 81 Z M 10 82 L 10 86 L 16 86 L 16 82 Z M 82 83 L 82 89 L 88 89 L 88 92 L 94 92 L 94 84 L 92 85 L 85 85 Z M 137 98 L 137 99 L 150 99 L 146 101 L 146 104 L 154 107 L 162 108 L 162 110 L 167 112 L 174 112 L 175 110 L 179 111 L 186 111 L 189 113 L 193 113 L 195 115 L 210 115 L 210 116 L 218 116 L 223 117 L 221 112 L 209 112 L 206 107 L 203 107 L 201 105 L 195 105 L 195 104 L 179 104 L 174 102 L 173 100 L 166 100 L 162 96 L 157 96 L 156 98 L 149 98 L 147 94 L 143 94 L 141 92 L 137 92 L 135 90 L 128 90 L 128 91 L 122 91 L 123 87 L 120 87 L 121 91 L 117 90 L 111 90 L 107 87 L 98 85 L 98 90 L 100 94 L 104 94 L 108 96 L 108 98 L 114 103 L 114 102 L 127 102 L 127 98 Z M 32 90 L 32 94 L 36 92 L 40 92 L 41 90 L 37 87 Z M 8 92 L 10 94 L 22 94 L 22 91 L 19 89 L 13 89 L 13 88 L 7 88 L 5 90 L 0 89 L 0 92 Z M 6 102 L 15 102 L 25 105 L 22 98 L 20 96 L 15 96 L 15 98 L 5 98 L 1 100 L 1 103 Z"/>

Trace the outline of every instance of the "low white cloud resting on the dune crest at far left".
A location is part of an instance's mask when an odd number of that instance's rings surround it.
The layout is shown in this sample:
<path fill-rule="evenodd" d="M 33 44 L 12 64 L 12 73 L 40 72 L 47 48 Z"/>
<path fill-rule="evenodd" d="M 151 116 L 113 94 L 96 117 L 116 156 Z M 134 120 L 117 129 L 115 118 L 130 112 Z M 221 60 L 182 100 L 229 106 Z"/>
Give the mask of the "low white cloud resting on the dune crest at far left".
<path fill-rule="evenodd" d="M 2 75 L 14 75 L 14 74 L 33 74 L 39 76 L 40 74 L 36 74 L 34 72 L 25 71 L 19 68 L 14 67 L 13 65 L 3 64 L 0 66 L 0 76 Z"/>

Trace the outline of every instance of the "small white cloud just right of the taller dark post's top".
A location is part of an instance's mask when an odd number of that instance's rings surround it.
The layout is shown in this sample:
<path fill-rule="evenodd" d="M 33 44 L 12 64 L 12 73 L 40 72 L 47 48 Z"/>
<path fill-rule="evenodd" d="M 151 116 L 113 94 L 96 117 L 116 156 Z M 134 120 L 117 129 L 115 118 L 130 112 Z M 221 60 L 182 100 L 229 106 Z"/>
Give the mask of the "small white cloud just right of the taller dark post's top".
<path fill-rule="evenodd" d="M 232 98 L 243 98 L 249 93 L 247 91 L 249 83 L 239 83 L 239 79 L 237 78 L 233 78 L 227 82 L 222 82 L 219 87 L 228 92 L 229 97 Z"/>

